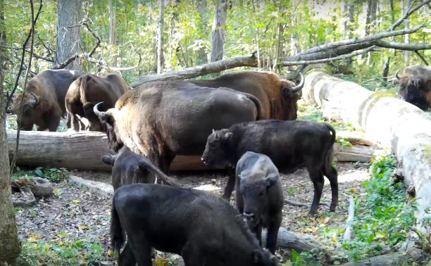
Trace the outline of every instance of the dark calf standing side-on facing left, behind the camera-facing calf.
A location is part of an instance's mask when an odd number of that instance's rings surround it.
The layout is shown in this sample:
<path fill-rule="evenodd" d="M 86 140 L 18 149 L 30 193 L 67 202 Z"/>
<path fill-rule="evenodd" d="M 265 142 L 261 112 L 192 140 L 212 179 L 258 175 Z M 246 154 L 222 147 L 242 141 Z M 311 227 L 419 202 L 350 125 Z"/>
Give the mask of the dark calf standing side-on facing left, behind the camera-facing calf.
<path fill-rule="evenodd" d="M 278 170 L 307 167 L 314 185 L 314 198 L 309 216 L 316 214 L 322 196 L 323 175 L 330 180 L 331 211 L 338 203 L 337 170 L 332 167 L 335 129 L 325 123 L 306 121 L 261 120 L 232 125 L 208 136 L 202 161 L 214 167 L 235 167 L 247 151 L 263 153 Z M 230 176 L 224 198 L 230 198 L 235 177 Z"/>

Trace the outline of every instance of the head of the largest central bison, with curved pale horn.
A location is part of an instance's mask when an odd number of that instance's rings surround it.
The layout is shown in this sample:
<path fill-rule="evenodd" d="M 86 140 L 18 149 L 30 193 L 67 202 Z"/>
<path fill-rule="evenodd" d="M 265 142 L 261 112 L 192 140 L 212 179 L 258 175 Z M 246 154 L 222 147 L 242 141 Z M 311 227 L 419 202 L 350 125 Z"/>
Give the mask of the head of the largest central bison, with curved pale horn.
<path fill-rule="evenodd" d="M 101 125 L 104 127 L 104 131 L 106 132 L 106 135 L 108 136 L 108 144 L 109 148 L 111 148 L 113 151 L 118 152 L 120 148 L 123 147 L 123 143 L 120 142 L 118 137 L 117 128 L 115 127 L 115 118 L 111 113 L 108 111 L 100 111 L 99 106 L 103 104 L 97 103 L 94 108 L 93 112 L 97 117 L 99 118 L 99 121 L 101 122 Z"/>

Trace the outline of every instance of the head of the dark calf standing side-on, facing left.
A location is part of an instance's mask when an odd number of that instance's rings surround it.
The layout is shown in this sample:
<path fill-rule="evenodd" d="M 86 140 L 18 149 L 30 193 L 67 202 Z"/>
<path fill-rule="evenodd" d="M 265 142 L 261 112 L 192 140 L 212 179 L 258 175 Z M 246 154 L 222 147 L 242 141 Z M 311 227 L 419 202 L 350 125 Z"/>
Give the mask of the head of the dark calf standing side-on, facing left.
<path fill-rule="evenodd" d="M 232 156 L 235 151 L 230 151 L 232 146 L 232 132 L 229 129 L 215 131 L 208 136 L 202 162 L 220 169 L 234 167 Z"/>

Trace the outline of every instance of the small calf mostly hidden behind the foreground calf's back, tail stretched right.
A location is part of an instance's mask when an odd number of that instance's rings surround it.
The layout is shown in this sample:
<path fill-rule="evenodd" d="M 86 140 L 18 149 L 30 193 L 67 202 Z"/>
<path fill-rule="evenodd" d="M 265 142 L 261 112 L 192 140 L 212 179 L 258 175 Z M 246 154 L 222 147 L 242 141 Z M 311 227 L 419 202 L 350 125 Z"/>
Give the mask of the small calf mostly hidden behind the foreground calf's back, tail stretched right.
<path fill-rule="evenodd" d="M 102 156 L 101 160 L 112 168 L 112 186 L 114 191 L 126 184 L 154 183 L 155 176 L 169 186 L 181 187 L 176 179 L 168 177 L 156 165 L 144 156 L 140 156 L 130 148 L 123 146 L 114 156 Z"/>

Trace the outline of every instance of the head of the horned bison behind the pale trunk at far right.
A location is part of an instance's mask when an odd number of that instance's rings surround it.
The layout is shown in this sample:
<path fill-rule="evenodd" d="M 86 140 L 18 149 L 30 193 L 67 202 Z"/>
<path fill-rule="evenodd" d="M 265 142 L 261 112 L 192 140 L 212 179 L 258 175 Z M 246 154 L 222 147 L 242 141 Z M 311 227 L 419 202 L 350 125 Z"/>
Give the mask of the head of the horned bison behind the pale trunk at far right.
<path fill-rule="evenodd" d="M 401 99 L 418 106 L 422 110 L 427 110 L 430 107 L 431 100 L 431 80 L 423 75 L 398 75 L 399 70 L 396 72 L 396 78 L 399 80 L 398 94 Z"/>

